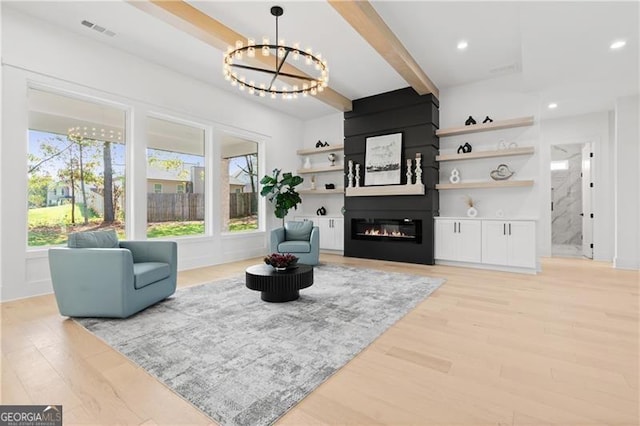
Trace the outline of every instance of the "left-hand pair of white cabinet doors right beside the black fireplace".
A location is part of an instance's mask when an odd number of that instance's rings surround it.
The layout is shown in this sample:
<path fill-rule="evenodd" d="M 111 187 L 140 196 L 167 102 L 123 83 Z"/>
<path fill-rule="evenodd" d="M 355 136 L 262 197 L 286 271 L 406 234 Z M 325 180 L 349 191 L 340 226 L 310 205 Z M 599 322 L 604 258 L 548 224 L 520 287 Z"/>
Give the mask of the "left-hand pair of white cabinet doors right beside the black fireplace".
<path fill-rule="evenodd" d="M 481 230 L 481 223 L 477 220 L 437 220 L 436 259 L 480 262 Z"/>

